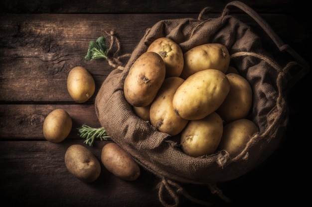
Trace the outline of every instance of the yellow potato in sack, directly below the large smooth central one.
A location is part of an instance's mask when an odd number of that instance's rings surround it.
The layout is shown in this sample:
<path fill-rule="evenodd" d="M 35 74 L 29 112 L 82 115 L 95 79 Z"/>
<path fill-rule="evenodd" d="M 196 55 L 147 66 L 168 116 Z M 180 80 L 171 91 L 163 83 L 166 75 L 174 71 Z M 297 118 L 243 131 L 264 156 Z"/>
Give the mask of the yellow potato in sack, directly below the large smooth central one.
<path fill-rule="evenodd" d="M 181 132 L 181 150 L 192 157 L 210 155 L 217 149 L 222 133 L 222 119 L 216 112 L 191 120 Z"/>

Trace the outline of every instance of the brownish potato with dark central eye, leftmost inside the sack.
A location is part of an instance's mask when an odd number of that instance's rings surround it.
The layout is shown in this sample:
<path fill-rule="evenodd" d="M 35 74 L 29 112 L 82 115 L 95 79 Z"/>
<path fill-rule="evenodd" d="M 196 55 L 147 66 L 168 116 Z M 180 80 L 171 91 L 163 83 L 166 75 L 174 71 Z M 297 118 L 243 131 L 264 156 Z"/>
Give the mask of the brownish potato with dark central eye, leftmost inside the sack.
<path fill-rule="evenodd" d="M 150 105 L 165 78 L 165 72 L 165 64 L 157 53 L 143 53 L 125 78 L 126 100 L 137 107 Z"/>

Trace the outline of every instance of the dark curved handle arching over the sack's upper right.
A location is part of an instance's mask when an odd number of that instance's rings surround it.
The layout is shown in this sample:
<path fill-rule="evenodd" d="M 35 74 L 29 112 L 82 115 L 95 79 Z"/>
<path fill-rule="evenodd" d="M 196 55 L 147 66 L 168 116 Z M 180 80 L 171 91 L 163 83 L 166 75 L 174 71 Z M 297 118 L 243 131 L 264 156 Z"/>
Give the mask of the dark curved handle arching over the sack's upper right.
<path fill-rule="evenodd" d="M 281 40 L 281 38 L 273 31 L 270 25 L 255 10 L 253 10 L 252 8 L 250 8 L 241 1 L 234 0 L 225 5 L 222 16 L 227 15 L 230 12 L 229 9 L 230 6 L 235 6 L 241 9 L 242 11 L 247 13 L 251 18 L 253 18 L 259 24 L 259 26 L 261 26 L 262 29 L 268 34 L 268 36 L 273 40 L 278 49 L 281 52 L 282 51 L 288 52 L 302 67 L 302 69 L 298 71 L 296 74 L 294 74 L 292 78 L 289 80 L 287 87 L 285 88 L 286 90 L 292 88 L 302 77 L 304 77 L 309 72 L 310 65 L 308 64 L 308 62 L 306 62 L 296 51 L 294 51 L 293 48 L 285 44 Z"/>

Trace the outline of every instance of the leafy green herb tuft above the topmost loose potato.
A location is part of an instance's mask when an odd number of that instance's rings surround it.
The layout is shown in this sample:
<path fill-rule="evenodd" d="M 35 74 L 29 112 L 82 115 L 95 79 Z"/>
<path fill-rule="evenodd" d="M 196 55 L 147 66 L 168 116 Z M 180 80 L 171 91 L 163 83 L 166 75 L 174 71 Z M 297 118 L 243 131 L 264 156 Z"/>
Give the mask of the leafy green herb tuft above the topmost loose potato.
<path fill-rule="evenodd" d="M 100 36 L 96 41 L 90 41 L 87 55 L 85 56 L 86 60 L 108 58 L 109 48 L 105 44 L 105 37 Z"/>

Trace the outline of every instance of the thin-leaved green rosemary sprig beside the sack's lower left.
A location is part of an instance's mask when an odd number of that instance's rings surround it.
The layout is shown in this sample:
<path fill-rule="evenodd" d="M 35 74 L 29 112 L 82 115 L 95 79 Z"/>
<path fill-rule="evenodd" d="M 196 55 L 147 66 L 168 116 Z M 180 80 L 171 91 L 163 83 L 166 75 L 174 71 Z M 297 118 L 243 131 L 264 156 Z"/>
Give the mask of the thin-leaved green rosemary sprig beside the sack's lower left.
<path fill-rule="evenodd" d="M 95 138 L 100 138 L 101 141 L 111 140 L 111 137 L 106 134 L 106 130 L 103 127 L 92 128 L 88 125 L 82 125 L 81 128 L 78 128 L 78 131 L 79 136 L 86 139 L 83 143 L 88 144 L 89 146 L 93 146 Z"/>

